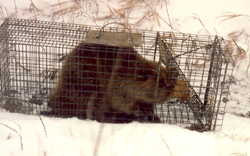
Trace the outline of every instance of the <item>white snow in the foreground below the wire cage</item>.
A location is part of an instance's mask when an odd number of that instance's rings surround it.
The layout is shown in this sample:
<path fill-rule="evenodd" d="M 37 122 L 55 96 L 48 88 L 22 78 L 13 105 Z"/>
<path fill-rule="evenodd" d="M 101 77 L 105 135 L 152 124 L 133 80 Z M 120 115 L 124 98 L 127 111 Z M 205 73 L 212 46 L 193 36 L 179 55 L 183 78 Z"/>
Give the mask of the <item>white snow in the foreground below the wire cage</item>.
<path fill-rule="evenodd" d="M 175 125 L 101 124 L 96 121 L 1 113 L 3 155 L 230 155 L 249 153 L 250 120 L 226 114 L 222 130 L 190 131 Z M 240 122 L 239 122 L 240 121 Z M 44 127 L 43 127 L 44 124 Z M 20 129 L 19 129 L 20 126 Z M 8 138 L 8 136 L 10 136 Z"/>

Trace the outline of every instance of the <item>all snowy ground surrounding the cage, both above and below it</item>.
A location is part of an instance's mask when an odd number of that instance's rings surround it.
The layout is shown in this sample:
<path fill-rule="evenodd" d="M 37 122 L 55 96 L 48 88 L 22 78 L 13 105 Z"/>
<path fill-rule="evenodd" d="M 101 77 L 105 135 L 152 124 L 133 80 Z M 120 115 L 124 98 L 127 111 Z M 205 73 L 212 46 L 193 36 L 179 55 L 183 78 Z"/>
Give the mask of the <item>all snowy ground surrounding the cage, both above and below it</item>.
<path fill-rule="evenodd" d="M 54 5 L 59 2 L 61 5 Z M 120 4 L 114 0 L 98 0 L 98 6 L 95 4 L 96 1 L 82 1 L 82 10 L 86 11 L 85 13 L 89 16 L 81 14 L 77 16 L 77 12 L 74 10 L 64 16 L 52 14 L 59 10 L 59 7 L 73 6 L 74 3 L 70 2 L 63 0 L 1 0 L 0 23 L 3 22 L 4 17 L 8 16 L 18 18 L 37 17 L 39 20 L 99 26 L 102 26 L 104 22 L 126 22 L 128 20 L 118 18 L 119 15 L 114 10 L 113 17 L 109 20 L 93 21 L 89 18 L 101 18 L 108 15 L 109 8 L 107 5 L 112 8 L 119 8 Z M 157 6 L 157 2 L 162 7 Z M 157 2 L 149 5 L 143 5 L 145 3 L 141 2 L 142 6 L 132 9 L 131 14 L 129 14 L 129 22 L 133 24 L 134 28 L 170 31 L 171 29 L 166 22 L 159 19 L 159 25 L 156 16 L 153 15 L 148 16 L 147 20 L 135 24 L 146 10 L 150 10 L 148 9 L 149 6 L 153 9 L 156 8 L 162 19 L 169 21 L 166 12 L 166 9 L 168 9 L 171 24 L 175 30 L 185 33 L 220 35 L 229 40 L 231 39 L 229 34 L 235 32 L 235 41 L 246 50 L 246 57 L 237 62 L 234 70 L 232 77 L 234 81 L 230 86 L 227 113 L 221 130 L 199 133 L 168 124 L 142 124 L 137 122 L 102 124 L 77 118 L 62 119 L 44 116 L 40 119 L 38 116 L 8 113 L 1 110 L 1 155 L 250 155 L 250 71 L 247 71 L 250 61 L 250 1 L 169 0 L 168 3 L 165 3 L 165 1 Z M 15 7 L 17 10 L 15 10 Z M 6 9 L 8 12 L 6 12 Z M 151 14 L 153 13 L 153 10 L 151 10 Z M 232 15 L 231 13 L 247 16 L 225 20 L 225 15 Z M 208 32 L 204 30 L 202 24 Z M 243 33 L 241 34 L 241 32 Z"/>

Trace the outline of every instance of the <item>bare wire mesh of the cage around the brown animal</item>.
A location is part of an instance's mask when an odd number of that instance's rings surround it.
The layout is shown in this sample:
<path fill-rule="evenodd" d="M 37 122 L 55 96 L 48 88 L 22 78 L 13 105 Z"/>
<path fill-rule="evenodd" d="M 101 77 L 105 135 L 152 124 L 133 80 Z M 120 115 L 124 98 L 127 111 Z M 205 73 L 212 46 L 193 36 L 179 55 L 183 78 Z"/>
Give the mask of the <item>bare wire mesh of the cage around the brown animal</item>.
<path fill-rule="evenodd" d="M 26 19 L 7 19 L 0 27 L 0 107 L 39 114 L 49 110 L 65 57 L 86 40 L 90 30 L 124 32 L 126 27 L 89 26 Z M 168 99 L 155 106 L 162 123 L 215 130 L 223 123 L 233 60 L 222 37 L 129 30 L 141 34 L 133 48 L 149 60 L 178 69 L 190 99 Z M 133 37 L 131 37 L 133 38 Z M 198 125 L 198 127 L 197 127 Z"/>

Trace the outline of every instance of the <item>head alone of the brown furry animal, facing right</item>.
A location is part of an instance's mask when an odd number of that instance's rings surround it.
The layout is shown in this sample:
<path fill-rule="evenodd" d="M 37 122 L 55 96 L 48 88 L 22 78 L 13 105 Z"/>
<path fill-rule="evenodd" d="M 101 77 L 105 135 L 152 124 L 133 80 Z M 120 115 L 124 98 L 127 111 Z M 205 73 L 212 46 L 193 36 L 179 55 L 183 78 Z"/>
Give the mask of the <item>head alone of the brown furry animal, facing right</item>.
<path fill-rule="evenodd" d="M 135 101 L 161 103 L 166 101 L 173 92 L 178 72 L 176 69 L 166 69 L 159 63 L 143 60 L 136 63 L 128 71 L 126 83 L 127 95 Z M 171 75 L 171 76 L 170 76 Z"/>

